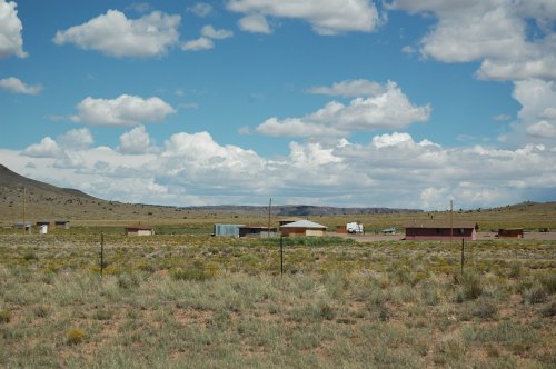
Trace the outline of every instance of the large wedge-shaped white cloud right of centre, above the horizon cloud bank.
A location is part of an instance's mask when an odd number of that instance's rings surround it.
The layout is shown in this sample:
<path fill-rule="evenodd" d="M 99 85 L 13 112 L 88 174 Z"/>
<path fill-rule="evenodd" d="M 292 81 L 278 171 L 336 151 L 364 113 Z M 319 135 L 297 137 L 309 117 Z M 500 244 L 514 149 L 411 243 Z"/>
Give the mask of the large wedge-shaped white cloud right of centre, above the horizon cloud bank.
<path fill-rule="evenodd" d="M 259 124 L 256 131 L 275 137 L 348 136 L 353 131 L 399 129 L 414 122 L 427 121 L 430 117 L 430 106 L 413 104 L 391 81 L 385 86 L 348 81 L 311 91 L 350 96 L 356 90 L 371 96 L 353 99 L 349 104 L 331 101 L 302 118 L 270 118 Z"/>

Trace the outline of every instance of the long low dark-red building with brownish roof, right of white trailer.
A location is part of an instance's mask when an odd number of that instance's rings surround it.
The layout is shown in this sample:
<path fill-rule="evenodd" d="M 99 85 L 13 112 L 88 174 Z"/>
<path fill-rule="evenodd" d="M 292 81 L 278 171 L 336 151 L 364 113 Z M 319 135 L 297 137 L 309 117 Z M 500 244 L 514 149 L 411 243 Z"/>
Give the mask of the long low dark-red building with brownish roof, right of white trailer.
<path fill-rule="evenodd" d="M 416 220 L 405 226 L 406 240 L 476 240 L 478 226 L 474 221 Z"/>

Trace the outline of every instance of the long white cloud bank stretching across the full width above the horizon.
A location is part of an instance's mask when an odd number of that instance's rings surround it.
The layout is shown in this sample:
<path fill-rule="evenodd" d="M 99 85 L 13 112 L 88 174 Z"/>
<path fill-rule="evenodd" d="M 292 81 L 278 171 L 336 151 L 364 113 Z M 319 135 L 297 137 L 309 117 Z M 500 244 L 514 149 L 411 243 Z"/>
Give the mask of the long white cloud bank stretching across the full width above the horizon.
<path fill-rule="evenodd" d="M 69 138 L 81 144 L 68 144 Z M 116 149 L 92 147 L 87 129 L 43 138 L 22 152 L 1 150 L 4 164 L 34 178 L 121 201 L 162 205 L 280 203 L 446 209 L 514 203 L 556 189 L 556 148 L 444 148 L 407 132 L 291 142 L 289 153 L 264 158 L 220 144 L 208 132 L 178 132 L 157 147 L 145 127 Z M 540 195 L 539 195 L 540 196 Z"/>

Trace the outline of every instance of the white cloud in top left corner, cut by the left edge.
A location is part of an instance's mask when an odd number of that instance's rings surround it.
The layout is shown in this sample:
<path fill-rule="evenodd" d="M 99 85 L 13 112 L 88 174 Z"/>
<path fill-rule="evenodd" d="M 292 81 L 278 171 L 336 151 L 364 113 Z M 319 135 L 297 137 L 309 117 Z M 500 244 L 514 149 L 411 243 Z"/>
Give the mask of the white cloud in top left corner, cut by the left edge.
<path fill-rule="evenodd" d="M 0 58 L 27 57 L 21 37 L 23 24 L 18 17 L 17 6 L 14 1 L 0 0 Z"/>

